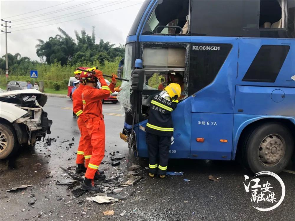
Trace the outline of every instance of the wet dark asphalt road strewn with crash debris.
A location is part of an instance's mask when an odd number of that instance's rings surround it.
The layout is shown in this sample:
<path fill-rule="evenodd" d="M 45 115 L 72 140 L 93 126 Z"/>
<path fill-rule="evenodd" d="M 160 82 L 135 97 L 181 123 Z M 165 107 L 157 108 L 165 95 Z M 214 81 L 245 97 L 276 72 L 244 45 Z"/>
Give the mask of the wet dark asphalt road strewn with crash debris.
<path fill-rule="evenodd" d="M 126 199 L 114 204 L 97 204 L 85 200 L 94 194 L 73 197 L 71 190 L 67 190 L 68 186 L 55 184 L 56 180 L 66 178 L 59 166 L 72 166 L 73 169 L 75 166 L 79 130 L 71 107 L 69 99 L 49 97 L 44 109 L 53 120 L 50 137 L 57 141 L 50 146 L 40 142 L 35 148 L 23 149 L 13 159 L 1 161 L 1 220 L 294 220 L 295 174 L 279 174 L 286 187 L 285 198 L 278 208 L 261 212 L 252 205 L 266 204 L 252 204 L 251 194 L 245 192 L 243 184 L 244 175 L 251 179 L 253 174 L 238 163 L 229 161 L 173 160 L 169 162 L 168 170 L 183 171 L 183 176 L 168 176 L 160 180 L 148 177 L 146 159 L 139 162 L 133 159 L 142 166 L 143 178 L 134 186 L 122 187 L 120 194 Z M 120 105 L 105 103 L 103 109 L 106 124 L 104 161 L 109 160 L 112 151 L 122 154 L 117 153 L 116 157 L 127 157 L 127 143 L 119 138 L 124 122 Z M 70 143 L 74 145 L 69 146 Z M 291 162 L 288 169 L 294 171 L 294 164 Z M 107 179 L 123 173 L 125 167 L 124 159 L 117 167 L 106 163 L 101 165 Z M 53 177 L 46 178 L 49 172 Z M 219 182 L 209 180 L 208 175 L 211 174 L 221 177 Z M 184 178 L 190 182 L 183 181 Z M 278 200 L 281 197 L 279 183 L 272 177 L 261 178 L 261 182 L 266 181 L 271 183 L 271 190 Z M 32 187 L 5 191 L 23 184 Z M 29 205 L 32 194 L 36 202 Z M 106 210 L 114 210 L 114 215 L 104 215 Z M 120 216 L 124 210 L 127 212 Z"/>

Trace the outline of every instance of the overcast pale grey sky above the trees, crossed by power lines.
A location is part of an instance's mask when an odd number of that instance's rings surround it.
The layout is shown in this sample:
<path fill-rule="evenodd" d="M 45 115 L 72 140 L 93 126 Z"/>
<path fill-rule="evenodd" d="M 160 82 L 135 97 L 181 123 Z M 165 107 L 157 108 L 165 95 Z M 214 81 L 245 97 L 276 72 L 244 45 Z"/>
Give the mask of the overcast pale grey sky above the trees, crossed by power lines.
<path fill-rule="evenodd" d="M 74 30 L 81 33 L 82 29 L 86 30 L 87 34 L 91 35 L 92 26 L 95 26 L 96 42 L 99 39 L 104 39 L 104 41 L 109 41 L 111 43 L 119 45 L 125 44 L 125 39 L 129 32 L 129 29 L 137 15 L 143 0 L 65 0 L 65 1 L 13 1 L 13 0 L 1 0 L 1 19 L 11 21 L 11 24 L 7 23 L 7 26 L 12 26 L 8 28 L 7 31 L 11 31 L 11 34 L 7 34 L 8 39 L 8 52 L 15 54 L 19 52 L 22 57 L 27 56 L 32 60 L 40 59 L 36 55 L 36 44 L 37 39 L 48 40 L 49 37 L 54 37 L 56 34 L 60 34 L 57 27 L 62 28 L 67 32 L 73 39 L 76 40 Z M 62 4 L 64 3 L 64 4 Z M 87 4 L 89 3 L 89 4 Z M 139 4 L 138 4 L 139 3 Z M 58 6 L 55 6 L 60 4 Z M 78 7 L 69 9 L 78 4 Z M 134 6 L 130 6 L 137 4 Z M 53 7 L 50 7 L 53 6 Z M 130 6 L 130 7 L 126 7 Z M 48 9 L 43 9 L 50 7 Z M 104 7 L 104 8 L 102 8 Z M 126 8 L 123 8 L 126 7 Z M 120 9 L 123 8 L 123 9 Z M 43 9 L 43 10 L 40 10 Z M 53 14 L 45 14 L 40 17 L 36 17 L 40 14 L 51 13 L 56 10 Z M 82 10 L 93 10 L 93 11 L 82 11 Z M 114 10 L 119 9 L 119 10 Z M 36 11 L 37 10 L 37 11 Z M 106 12 L 114 10 L 111 12 Z M 35 11 L 32 13 L 28 13 Z M 82 11 L 80 14 L 77 14 Z M 93 14 L 98 14 L 101 12 L 106 12 L 104 14 L 99 14 L 91 16 L 88 18 L 81 18 Z M 25 14 L 24 14 L 25 13 Z M 69 14 L 73 13 L 73 14 Z M 22 14 L 22 15 L 20 15 Z M 66 15 L 67 14 L 67 15 Z M 19 16 L 15 16 L 19 15 Z M 69 16 L 69 17 L 66 17 Z M 35 18 L 34 18 L 35 17 Z M 64 18 L 66 17 L 66 18 Z M 51 18 L 51 19 L 47 19 Z M 81 18 L 81 19 L 78 19 Z M 25 20 L 26 19 L 26 20 Z M 46 20 L 47 19 L 47 20 Z M 55 20 L 53 20 L 55 19 Z M 69 21 L 72 19 L 78 19 L 75 21 Z M 41 20 L 41 21 L 39 21 Z M 35 24 L 43 22 L 40 24 Z M 60 24 L 55 24 L 63 22 Z M 25 24 L 23 24 L 25 23 Z M 1 24 L 5 22 L 1 21 Z M 50 25 L 53 24 L 53 25 Z M 39 27 L 43 26 L 43 27 Z M 36 27 L 36 28 L 33 28 Z M 29 29 L 31 28 L 31 29 Z M 20 30 L 27 29 L 27 30 Z M 3 27 L 1 27 L 3 30 Z M 20 31 L 17 31 L 20 30 Z M 5 54 L 5 33 L 1 32 L 1 56 Z"/>

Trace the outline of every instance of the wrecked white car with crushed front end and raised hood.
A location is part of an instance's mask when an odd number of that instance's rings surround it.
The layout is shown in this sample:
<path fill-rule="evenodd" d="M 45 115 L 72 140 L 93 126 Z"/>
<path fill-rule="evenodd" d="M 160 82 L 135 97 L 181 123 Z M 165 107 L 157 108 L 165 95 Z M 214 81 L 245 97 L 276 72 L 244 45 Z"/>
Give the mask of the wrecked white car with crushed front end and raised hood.
<path fill-rule="evenodd" d="M 35 89 L 0 93 L 0 159 L 50 134 L 52 120 L 42 108 L 46 101 L 47 96 Z"/>

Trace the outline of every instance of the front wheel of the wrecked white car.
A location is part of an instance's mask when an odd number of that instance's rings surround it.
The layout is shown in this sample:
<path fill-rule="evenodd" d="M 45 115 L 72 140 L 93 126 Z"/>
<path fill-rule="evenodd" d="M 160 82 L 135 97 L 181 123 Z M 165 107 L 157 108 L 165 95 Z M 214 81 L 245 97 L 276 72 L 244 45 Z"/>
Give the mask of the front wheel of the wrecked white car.
<path fill-rule="evenodd" d="M 0 159 L 5 159 L 6 157 L 14 154 L 19 147 L 17 141 L 17 135 L 14 128 L 8 124 L 1 123 L 0 128 Z"/>

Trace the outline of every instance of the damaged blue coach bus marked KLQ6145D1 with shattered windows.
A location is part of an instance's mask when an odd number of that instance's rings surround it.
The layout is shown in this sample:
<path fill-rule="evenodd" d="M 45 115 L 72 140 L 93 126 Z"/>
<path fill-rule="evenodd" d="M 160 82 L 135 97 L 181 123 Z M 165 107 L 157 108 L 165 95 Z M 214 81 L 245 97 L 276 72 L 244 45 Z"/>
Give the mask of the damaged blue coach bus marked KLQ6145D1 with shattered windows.
<path fill-rule="evenodd" d="M 285 0 L 145 1 L 122 72 L 132 79 L 140 59 L 143 90 L 122 84 L 121 138 L 148 157 L 151 96 L 179 83 L 170 158 L 238 159 L 254 173 L 281 172 L 295 145 L 294 14 L 295 1 Z"/>

